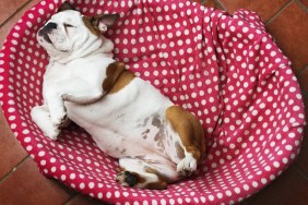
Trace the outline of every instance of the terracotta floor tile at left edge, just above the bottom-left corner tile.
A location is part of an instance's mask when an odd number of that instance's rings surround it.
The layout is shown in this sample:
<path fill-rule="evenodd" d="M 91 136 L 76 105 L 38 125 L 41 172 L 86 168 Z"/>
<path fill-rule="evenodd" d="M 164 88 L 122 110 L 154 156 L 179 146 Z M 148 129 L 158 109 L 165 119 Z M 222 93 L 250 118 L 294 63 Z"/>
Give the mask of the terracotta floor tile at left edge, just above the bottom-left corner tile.
<path fill-rule="evenodd" d="M 0 179 L 9 173 L 27 154 L 10 130 L 0 108 Z"/>

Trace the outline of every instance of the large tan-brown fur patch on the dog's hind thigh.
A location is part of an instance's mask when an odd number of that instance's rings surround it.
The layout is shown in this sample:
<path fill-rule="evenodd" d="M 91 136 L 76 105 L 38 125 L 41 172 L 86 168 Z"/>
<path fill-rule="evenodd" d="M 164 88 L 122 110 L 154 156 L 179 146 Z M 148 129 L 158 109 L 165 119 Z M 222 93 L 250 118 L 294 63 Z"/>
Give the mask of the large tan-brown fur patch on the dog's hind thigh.
<path fill-rule="evenodd" d="M 169 107 L 166 110 L 166 118 L 179 134 L 186 150 L 200 164 L 205 154 L 205 138 L 200 122 L 192 113 L 179 106 Z"/>

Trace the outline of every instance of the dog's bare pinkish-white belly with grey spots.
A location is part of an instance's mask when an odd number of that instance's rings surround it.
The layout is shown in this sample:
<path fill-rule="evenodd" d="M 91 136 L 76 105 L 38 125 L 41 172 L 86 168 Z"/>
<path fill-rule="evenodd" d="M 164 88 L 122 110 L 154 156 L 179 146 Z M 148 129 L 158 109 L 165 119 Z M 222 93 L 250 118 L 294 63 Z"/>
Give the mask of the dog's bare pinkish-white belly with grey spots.
<path fill-rule="evenodd" d="M 171 147 L 178 137 L 165 120 L 165 110 L 173 105 L 140 79 L 91 105 L 66 102 L 68 117 L 84 128 L 100 149 L 116 158 L 176 156 Z"/>

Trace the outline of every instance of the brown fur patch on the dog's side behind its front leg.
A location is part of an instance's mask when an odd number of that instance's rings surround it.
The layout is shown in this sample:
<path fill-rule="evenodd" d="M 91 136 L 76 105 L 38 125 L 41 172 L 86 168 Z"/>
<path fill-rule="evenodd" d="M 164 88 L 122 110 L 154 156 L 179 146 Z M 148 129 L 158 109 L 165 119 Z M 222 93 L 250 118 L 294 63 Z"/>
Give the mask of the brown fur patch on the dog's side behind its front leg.
<path fill-rule="evenodd" d="M 103 82 L 103 89 L 114 94 L 122 89 L 133 79 L 134 74 L 126 70 L 121 62 L 114 62 L 107 67 L 106 79 Z"/>

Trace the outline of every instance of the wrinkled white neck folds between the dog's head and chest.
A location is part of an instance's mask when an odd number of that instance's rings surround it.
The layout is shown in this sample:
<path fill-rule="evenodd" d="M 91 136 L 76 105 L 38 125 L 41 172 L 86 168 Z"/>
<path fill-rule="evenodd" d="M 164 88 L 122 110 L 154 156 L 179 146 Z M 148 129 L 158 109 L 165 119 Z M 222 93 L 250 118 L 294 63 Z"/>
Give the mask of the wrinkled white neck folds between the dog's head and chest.
<path fill-rule="evenodd" d="M 86 44 L 83 44 L 82 47 L 80 47 L 74 52 L 68 52 L 68 55 L 49 53 L 50 56 L 49 62 L 51 63 L 58 62 L 61 64 L 66 64 L 70 61 L 73 61 L 74 59 L 80 59 L 96 53 L 102 53 L 107 58 L 112 58 L 114 57 L 112 50 L 114 50 L 114 43 L 108 38 L 100 36 L 100 39 L 95 38 L 93 40 L 90 40 Z"/>

